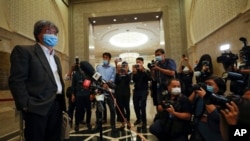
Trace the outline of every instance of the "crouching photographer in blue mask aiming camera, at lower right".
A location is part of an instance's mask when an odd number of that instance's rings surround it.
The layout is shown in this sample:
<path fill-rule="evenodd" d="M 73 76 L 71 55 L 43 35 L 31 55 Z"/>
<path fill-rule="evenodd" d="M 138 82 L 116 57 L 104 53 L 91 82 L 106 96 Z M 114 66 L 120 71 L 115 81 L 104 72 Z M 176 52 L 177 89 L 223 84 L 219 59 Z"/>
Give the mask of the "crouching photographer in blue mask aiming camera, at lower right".
<path fill-rule="evenodd" d="M 220 112 L 218 105 L 210 103 L 207 97 L 211 94 L 223 96 L 226 83 L 223 78 L 210 76 L 205 80 L 206 87 L 195 89 L 189 96 L 194 106 L 193 131 L 191 141 L 222 141 L 220 131 Z"/>

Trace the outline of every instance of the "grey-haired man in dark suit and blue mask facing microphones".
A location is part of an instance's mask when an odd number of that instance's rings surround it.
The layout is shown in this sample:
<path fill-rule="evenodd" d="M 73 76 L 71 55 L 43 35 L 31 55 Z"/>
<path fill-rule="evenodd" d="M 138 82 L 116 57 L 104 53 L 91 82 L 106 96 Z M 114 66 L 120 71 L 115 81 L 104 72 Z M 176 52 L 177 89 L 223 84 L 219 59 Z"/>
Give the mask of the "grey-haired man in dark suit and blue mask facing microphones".
<path fill-rule="evenodd" d="M 25 140 L 59 141 L 66 103 L 62 68 L 53 49 L 58 28 L 40 20 L 33 33 L 35 45 L 17 45 L 11 53 L 9 87 L 25 120 Z"/>

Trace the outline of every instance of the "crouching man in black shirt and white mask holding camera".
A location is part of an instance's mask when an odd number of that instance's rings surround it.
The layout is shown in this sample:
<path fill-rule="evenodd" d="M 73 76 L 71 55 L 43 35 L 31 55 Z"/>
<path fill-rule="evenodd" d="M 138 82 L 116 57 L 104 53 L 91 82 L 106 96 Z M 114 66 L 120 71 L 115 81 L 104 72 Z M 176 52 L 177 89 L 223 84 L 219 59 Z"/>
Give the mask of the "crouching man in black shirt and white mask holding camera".
<path fill-rule="evenodd" d="M 188 124 L 191 118 L 191 103 L 182 94 L 179 79 L 167 83 L 167 96 L 162 101 L 161 117 L 149 128 L 159 141 L 188 141 Z"/>

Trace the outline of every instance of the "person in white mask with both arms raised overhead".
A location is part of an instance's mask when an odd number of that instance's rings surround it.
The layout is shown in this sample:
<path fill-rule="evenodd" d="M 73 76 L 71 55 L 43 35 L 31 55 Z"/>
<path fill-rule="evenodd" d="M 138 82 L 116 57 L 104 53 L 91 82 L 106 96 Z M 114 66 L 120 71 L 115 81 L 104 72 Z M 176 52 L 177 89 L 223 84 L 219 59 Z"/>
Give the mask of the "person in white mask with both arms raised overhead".
<path fill-rule="evenodd" d="M 193 69 L 188 61 L 186 55 L 182 55 L 182 58 L 179 63 L 178 67 L 178 78 L 182 82 L 183 86 L 183 94 L 187 97 L 193 92 L 192 91 L 192 84 L 193 84 Z"/>

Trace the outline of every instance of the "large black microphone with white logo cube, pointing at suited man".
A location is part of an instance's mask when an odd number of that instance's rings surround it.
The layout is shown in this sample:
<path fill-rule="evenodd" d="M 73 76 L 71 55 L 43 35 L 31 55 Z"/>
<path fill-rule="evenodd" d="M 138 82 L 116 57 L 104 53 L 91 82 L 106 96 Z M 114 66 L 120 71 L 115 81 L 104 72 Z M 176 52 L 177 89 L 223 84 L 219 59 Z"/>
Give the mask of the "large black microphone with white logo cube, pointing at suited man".
<path fill-rule="evenodd" d="M 113 83 L 109 83 L 102 79 L 102 75 L 95 71 L 95 69 L 92 67 L 92 65 L 87 61 L 81 61 L 80 62 L 80 68 L 85 72 L 86 75 L 92 77 L 95 81 L 102 83 L 102 84 L 108 84 L 108 86 L 111 89 L 114 89 L 115 85 Z"/>

